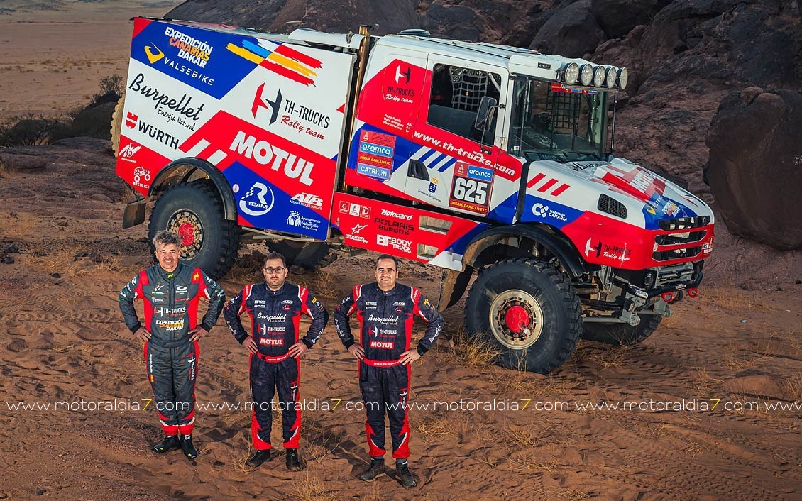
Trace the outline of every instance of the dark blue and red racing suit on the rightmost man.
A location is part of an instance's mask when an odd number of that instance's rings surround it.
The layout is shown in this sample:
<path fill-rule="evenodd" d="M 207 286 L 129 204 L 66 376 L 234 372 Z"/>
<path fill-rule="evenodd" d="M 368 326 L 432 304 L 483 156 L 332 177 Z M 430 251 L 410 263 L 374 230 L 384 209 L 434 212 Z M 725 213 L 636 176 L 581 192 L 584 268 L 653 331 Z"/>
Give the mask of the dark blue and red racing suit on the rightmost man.
<path fill-rule="evenodd" d="M 415 315 L 427 322 L 426 332 L 418 342 L 423 356 L 434 345 L 443 317 L 419 289 L 396 284 L 390 291 L 379 289 L 375 282 L 357 285 L 334 309 L 334 325 L 346 349 L 354 344 L 348 317 L 356 313 L 359 321 L 359 343 L 365 358 L 359 362 L 359 390 L 367 410 L 365 430 L 371 458 L 384 455 L 384 413 L 390 418 L 393 457 L 409 457 L 409 423 L 407 395 L 411 366 L 401 365 L 401 354 L 410 347 Z"/>

